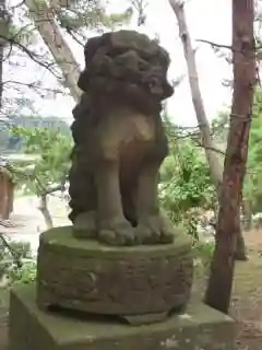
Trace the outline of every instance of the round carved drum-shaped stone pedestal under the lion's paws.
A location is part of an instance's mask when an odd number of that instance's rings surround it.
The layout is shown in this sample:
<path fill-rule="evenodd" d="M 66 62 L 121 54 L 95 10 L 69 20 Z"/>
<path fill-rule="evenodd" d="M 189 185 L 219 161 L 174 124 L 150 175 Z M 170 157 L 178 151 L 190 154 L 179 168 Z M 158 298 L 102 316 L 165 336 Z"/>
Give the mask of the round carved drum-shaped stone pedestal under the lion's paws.
<path fill-rule="evenodd" d="M 40 236 L 37 300 L 41 307 L 136 316 L 134 322 L 152 314 L 154 320 L 159 315 L 153 314 L 187 305 L 192 275 L 186 234 L 168 245 L 109 247 L 75 238 L 70 226 L 56 228 Z"/>

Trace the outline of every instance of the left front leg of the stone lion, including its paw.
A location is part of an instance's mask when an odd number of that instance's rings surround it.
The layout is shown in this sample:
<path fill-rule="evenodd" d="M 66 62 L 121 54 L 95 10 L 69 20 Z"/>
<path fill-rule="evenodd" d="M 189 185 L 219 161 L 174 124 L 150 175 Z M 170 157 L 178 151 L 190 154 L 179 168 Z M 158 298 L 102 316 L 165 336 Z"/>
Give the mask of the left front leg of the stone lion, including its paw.
<path fill-rule="evenodd" d="M 134 244 L 132 225 L 124 219 L 117 161 L 103 161 L 95 172 L 98 198 L 98 240 L 109 245 Z"/>

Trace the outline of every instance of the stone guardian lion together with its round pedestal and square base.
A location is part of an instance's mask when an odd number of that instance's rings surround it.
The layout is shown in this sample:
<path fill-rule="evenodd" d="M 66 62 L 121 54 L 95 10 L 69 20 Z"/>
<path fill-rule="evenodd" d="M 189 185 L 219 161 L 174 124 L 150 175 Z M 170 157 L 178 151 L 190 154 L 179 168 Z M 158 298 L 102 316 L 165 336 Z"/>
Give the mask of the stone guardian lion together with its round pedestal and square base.
<path fill-rule="evenodd" d="M 86 44 L 72 125 L 73 225 L 41 233 L 36 285 L 12 289 L 10 349 L 234 349 L 229 317 L 187 307 L 192 242 L 158 207 L 168 65 L 135 32 Z"/>

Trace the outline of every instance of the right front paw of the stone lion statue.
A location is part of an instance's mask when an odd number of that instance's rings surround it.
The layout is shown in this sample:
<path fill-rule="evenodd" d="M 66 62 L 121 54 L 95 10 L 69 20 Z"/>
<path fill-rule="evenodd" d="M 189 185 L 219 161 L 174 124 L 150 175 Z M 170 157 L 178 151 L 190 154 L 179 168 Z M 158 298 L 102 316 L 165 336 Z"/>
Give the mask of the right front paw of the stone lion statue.
<path fill-rule="evenodd" d="M 140 244 L 172 243 L 175 232 L 168 219 L 150 215 L 140 221 L 135 236 Z"/>

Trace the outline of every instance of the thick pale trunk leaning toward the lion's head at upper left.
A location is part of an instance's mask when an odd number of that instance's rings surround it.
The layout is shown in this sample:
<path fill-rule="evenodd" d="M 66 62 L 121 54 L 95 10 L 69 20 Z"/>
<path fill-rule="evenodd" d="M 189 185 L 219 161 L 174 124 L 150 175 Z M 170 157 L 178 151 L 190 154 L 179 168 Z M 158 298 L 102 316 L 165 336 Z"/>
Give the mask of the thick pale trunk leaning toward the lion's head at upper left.
<path fill-rule="evenodd" d="M 40 2 L 25 0 L 25 4 L 43 40 L 62 71 L 64 85 L 70 90 L 72 97 L 79 101 L 81 96 L 81 90 L 78 86 L 80 67 L 56 23 L 53 7 L 50 9 L 45 0 Z"/>

